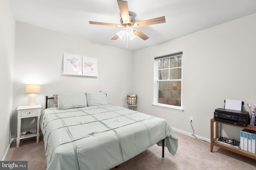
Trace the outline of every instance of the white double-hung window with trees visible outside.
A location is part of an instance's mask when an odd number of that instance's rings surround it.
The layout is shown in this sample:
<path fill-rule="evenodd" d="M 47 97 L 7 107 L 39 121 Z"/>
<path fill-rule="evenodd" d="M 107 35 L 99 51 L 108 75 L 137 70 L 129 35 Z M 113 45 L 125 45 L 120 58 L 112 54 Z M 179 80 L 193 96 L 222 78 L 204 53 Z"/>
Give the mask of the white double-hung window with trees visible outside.
<path fill-rule="evenodd" d="M 182 111 L 182 52 L 155 57 L 154 106 Z"/>

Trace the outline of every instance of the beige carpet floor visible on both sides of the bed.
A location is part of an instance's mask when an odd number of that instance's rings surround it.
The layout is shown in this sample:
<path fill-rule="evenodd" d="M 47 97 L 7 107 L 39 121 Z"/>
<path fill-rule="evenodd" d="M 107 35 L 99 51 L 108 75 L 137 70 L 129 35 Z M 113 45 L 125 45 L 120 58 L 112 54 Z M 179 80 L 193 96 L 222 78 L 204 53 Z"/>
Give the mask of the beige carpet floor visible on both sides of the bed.
<path fill-rule="evenodd" d="M 111 170 L 255 170 L 256 160 L 218 147 L 210 152 L 210 144 L 204 141 L 176 133 L 179 138 L 177 153 L 172 156 L 165 148 L 162 158 L 162 147 L 154 145 L 134 158 Z M 46 158 L 44 141 L 36 139 L 20 142 L 16 148 L 13 143 L 6 160 L 28 160 L 28 170 L 45 170 Z"/>

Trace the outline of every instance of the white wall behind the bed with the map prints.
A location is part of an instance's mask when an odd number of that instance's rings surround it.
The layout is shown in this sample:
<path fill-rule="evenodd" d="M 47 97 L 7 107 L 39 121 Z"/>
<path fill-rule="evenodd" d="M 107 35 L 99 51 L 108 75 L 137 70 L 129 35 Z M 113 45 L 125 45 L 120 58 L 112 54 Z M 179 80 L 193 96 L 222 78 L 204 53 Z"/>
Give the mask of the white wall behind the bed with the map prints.
<path fill-rule="evenodd" d="M 62 75 L 63 53 L 97 58 L 98 78 Z M 132 52 L 19 21 L 14 63 L 12 137 L 16 137 L 16 108 L 28 104 L 28 94 L 24 94 L 26 84 L 41 85 L 36 103 L 43 107 L 45 96 L 100 90 L 107 93 L 108 103 L 127 107 L 126 95 L 132 92 Z"/>

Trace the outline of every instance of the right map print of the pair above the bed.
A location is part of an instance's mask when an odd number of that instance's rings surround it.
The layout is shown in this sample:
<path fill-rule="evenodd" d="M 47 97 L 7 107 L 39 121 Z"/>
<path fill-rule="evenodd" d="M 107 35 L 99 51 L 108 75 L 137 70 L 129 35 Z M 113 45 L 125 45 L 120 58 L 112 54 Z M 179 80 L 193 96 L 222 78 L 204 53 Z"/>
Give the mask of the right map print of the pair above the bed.
<path fill-rule="evenodd" d="M 98 60 L 96 58 L 82 56 L 82 75 L 98 76 Z"/>

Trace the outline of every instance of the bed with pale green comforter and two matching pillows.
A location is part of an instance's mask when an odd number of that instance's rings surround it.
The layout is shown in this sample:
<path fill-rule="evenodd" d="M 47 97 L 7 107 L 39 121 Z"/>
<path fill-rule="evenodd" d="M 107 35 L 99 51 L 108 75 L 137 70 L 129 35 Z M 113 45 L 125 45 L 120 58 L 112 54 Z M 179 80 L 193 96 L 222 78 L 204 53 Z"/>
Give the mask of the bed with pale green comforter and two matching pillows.
<path fill-rule="evenodd" d="M 109 170 L 155 144 L 178 148 L 166 120 L 108 104 L 106 93 L 54 95 L 50 108 L 48 99 L 40 121 L 48 170 Z"/>

